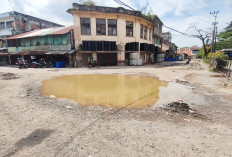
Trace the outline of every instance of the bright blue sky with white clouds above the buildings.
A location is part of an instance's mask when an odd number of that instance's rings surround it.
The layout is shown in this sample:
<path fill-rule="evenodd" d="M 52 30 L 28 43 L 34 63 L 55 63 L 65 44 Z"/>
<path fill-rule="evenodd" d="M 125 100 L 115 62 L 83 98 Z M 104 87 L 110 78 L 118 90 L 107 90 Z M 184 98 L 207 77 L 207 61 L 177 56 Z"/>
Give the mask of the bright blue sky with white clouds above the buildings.
<path fill-rule="evenodd" d="M 73 17 L 67 13 L 72 3 L 81 3 L 84 0 L 1 0 L 0 13 L 17 11 L 35 16 L 65 26 L 73 24 Z M 114 0 L 93 0 L 95 5 L 119 7 Z M 121 0 L 135 10 L 147 6 L 147 11 L 158 15 L 164 25 L 188 35 L 197 35 L 196 30 L 212 32 L 217 14 L 218 32 L 232 21 L 232 0 Z M 126 8 L 126 7 L 124 7 Z M 129 8 L 127 8 L 129 9 Z M 202 46 L 198 38 L 188 37 L 163 27 L 163 32 L 171 32 L 172 42 L 178 47 Z"/>

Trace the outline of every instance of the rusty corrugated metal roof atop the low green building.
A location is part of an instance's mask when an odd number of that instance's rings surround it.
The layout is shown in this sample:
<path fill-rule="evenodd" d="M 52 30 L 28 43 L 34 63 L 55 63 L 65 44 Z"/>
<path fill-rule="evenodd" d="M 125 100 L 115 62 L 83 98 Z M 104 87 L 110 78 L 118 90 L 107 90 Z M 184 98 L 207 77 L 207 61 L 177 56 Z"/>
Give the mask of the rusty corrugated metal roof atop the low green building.
<path fill-rule="evenodd" d="M 29 37 L 35 37 L 35 36 L 66 34 L 72 29 L 74 29 L 74 26 L 38 29 L 38 30 L 33 30 L 33 31 L 30 31 L 30 32 L 18 34 L 18 35 L 15 35 L 13 37 L 9 37 L 9 38 L 7 38 L 7 40 L 19 39 L 19 38 L 29 38 Z"/>

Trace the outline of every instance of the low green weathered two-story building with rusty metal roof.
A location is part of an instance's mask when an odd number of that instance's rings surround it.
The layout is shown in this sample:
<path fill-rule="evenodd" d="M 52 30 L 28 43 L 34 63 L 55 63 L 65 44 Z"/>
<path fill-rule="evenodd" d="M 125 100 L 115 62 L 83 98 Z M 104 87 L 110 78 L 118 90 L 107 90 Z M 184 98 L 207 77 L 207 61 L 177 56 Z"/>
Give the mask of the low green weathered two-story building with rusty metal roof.
<path fill-rule="evenodd" d="M 46 59 L 65 61 L 73 67 L 74 29 L 55 27 L 34 30 L 7 38 L 10 63 L 15 64 L 18 57 L 27 61 Z"/>

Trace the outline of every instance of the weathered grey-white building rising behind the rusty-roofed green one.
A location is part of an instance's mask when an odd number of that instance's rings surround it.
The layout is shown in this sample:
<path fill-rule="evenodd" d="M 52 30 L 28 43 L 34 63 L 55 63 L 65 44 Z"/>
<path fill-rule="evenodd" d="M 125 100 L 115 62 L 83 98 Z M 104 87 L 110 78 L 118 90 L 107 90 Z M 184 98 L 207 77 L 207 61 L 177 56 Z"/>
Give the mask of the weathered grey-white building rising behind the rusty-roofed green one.
<path fill-rule="evenodd" d="M 62 25 L 16 11 L 0 14 L 0 48 L 6 47 L 5 39 L 9 36 L 51 27 Z"/>

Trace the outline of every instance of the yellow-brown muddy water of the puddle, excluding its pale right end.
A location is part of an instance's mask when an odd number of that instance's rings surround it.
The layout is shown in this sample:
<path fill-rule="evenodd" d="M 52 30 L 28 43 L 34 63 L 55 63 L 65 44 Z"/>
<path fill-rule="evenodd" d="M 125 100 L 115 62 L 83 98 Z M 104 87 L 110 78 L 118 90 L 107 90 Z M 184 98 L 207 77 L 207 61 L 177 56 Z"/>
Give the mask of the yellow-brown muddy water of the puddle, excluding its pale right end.
<path fill-rule="evenodd" d="M 144 108 L 159 99 L 159 87 L 168 82 L 134 75 L 70 75 L 44 80 L 46 96 L 74 100 L 82 105 L 116 108 Z"/>

